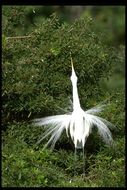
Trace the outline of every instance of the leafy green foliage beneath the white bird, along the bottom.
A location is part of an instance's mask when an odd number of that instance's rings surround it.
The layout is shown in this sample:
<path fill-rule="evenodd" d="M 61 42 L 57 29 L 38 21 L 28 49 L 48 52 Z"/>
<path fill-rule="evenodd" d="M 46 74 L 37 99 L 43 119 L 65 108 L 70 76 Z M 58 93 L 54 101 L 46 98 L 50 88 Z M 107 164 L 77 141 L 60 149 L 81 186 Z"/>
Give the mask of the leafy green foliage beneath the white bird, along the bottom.
<path fill-rule="evenodd" d="M 96 154 L 86 148 L 86 176 L 82 176 L 82 155 L 75 163 L 72 150 L 51 152 L 35 146 L 41 129 L 14 123 L 7 131 L 2 147 L 3 187 L 124 187 L 124 138 L 115 140 L 111 148 L 101 146 Z"/>

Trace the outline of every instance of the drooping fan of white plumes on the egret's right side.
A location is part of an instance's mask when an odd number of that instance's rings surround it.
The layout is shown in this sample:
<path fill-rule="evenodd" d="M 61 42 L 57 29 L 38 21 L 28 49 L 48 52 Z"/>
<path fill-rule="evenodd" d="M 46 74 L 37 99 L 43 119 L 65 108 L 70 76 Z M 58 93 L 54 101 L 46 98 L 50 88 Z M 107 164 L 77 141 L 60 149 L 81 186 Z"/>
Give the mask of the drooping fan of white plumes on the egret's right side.
<path fill-rule="evenodd" d="M 110 130 L 108 129 L 108 127 L 114 127 L 114 125 L 112 123 L 110 123 L 109 121 L 107 121 L 101 117 L 87 114 L 87 113 L 84 114 L 84 117 L 91 126 L 96 126 L 98 128 L 98 132 L 99 132 L 100 136 L 103 138 L 103 140 L 107 144 L 112 143 L 112 141 L 113 141 L 112 135 L 111 135 Z"/>

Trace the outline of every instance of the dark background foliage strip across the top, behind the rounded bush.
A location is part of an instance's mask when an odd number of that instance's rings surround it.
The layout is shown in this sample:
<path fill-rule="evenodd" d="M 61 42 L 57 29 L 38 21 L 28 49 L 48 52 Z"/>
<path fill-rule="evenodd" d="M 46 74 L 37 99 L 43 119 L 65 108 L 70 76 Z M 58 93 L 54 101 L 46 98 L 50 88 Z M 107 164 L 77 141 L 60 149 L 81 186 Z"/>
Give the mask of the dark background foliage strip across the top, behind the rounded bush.
<path fill-rule="evenodd" d="M 125 6 L 6 6 L 2 10 L 3 30 L 7 28 L 9 35 L 31 32 L 42 18 L 56 12 L 60 23 L 71 23 L 79 16 L 92 17 L 93 31 L 103 35 L 104 43 L 119 46 L 125 42 Z"/>

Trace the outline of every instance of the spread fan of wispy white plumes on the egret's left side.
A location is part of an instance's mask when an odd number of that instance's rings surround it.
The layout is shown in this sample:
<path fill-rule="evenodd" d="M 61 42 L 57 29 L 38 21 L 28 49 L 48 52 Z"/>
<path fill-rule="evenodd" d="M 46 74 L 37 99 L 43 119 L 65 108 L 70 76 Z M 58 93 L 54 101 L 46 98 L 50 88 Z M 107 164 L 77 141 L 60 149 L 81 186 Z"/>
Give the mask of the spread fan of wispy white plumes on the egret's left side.
<path fill-rule="evenodd" d="M 60 138 L 64 129 L 66 129 L 66 133 L 68 135 L 68 127 L 70 124 L 70 120 L 71 120 L 71 115 L 69 114 L 55 115 L 40 119 L 34 119 L 33 120 L 34 125 L 37 126 L 48 125 L 48 128 L 46 127 L 46 131 L 43 133 L 43 136 L 40 138 L 37 144 L 39 144 L 43 139 L 45 139 L 48 135 L 51 134 L 51 137 L 44 146 L 44 148 L 47 147 L 49 144 L 52 144 L 51 147 L 53 148 L 55 146 L 56 141 Z"/>

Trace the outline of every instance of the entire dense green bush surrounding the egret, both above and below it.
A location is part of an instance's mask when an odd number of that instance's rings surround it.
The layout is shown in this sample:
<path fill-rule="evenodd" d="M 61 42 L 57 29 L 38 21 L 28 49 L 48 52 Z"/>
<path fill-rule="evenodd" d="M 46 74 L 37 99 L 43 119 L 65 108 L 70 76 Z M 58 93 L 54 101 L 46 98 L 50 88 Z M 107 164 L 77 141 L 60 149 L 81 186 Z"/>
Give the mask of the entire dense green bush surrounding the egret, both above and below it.
<path fill-rule="evenodd" d="M 31 26 L 28 33 L 26 9 L 3 9 L 2 119 L 6 130 L 2 134 L 2 186 L 124 187 L 124 88 L 123 83 L 117 89 L 113 82 L 107 86 L 112 72 L 121 77 L 124 73 L 120 70 L 124 48 L 109 49 L 94 32 L 94 21 L 86 17 L 70 25 L 52 15 Z M 21 33 L 19 26 L 23 27 Z M 116 125 L 111 148 L 104 145 L 96 131 L 89 136 L 85 177 L 82 158 L 74 163 L 71 140 L 63 134 L 54 152 L 42 151 L 47 139 L 39 146 L 35 143 L 44 129 L 28 122 L 61 113 L 60 108 L 69 106 L 70 52 L 79 78 L 82 107 L 87 109 L 109 99 L 111 105 L 102 116 Z"/>

